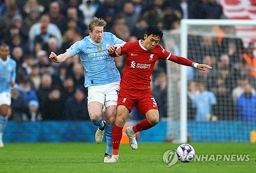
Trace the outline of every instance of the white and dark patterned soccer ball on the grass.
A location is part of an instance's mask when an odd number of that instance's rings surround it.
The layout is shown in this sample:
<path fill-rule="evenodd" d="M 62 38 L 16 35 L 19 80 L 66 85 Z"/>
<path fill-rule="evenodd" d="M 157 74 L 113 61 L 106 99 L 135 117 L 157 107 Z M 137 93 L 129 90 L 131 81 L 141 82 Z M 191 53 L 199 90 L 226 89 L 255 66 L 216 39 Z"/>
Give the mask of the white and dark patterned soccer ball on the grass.
<path fill-rule="evenodd" d="M 187 163 L 194 159 L 195 149 L 189 144 L 181 144 L 176 150 L 176 155 L 179 161 Z"/>

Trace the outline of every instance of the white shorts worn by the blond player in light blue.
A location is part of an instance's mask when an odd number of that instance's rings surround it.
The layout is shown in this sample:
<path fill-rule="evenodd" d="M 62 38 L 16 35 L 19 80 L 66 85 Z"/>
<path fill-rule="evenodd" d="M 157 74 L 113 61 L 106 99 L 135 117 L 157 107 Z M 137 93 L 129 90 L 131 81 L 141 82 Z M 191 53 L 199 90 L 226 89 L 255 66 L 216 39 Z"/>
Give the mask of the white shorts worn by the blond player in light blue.
<path fill-rule="evenodd" d="M 105 107 L 117 105 L 118 93 L 120 91 L 120 81 L 93 86 L 88 88 L 88 105 L 92 101 L 102 103 Z"/>

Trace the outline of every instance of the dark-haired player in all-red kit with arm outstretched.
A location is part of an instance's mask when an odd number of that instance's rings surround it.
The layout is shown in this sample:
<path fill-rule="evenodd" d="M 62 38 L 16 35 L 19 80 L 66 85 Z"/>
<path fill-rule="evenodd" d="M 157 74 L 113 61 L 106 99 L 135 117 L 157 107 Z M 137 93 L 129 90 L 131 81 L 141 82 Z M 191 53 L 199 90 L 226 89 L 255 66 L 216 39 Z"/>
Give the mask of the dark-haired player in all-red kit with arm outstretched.
<path fill-rule="evenodd" d="M 144 34 L 144 41 L 127 42 L 121 48 L 120 55 L 126 54 L 126 62 L 120 82 L 115 125 L 112 129 L 113 155 L 109 163 L 118 162 L 122 128 L 133 106 L 146 118 L 125 129 L 132 149 L 138 148 L 135 133 L 149 129 L 159 122 L 157 102 L 150 90 L 150 76 L 158 59 L 170 60 L 184 66 L 194 66 L 203 71 L 205 68 L 211 69 L 206 64 L 198 64 L 166 51 L 158 45 L 162 36 L 163 32 L 158 26 L 150 26 Z M 110 56 L 117 56 L 114 53 L 116 49 L 114 45 L 108 49 Z"/>

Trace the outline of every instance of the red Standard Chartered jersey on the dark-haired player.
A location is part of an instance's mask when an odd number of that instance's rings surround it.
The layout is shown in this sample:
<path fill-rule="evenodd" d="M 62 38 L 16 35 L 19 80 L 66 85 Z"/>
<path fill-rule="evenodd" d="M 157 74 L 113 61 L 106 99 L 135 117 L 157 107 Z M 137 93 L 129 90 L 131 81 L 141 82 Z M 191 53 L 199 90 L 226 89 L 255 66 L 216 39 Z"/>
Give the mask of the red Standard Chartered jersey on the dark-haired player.
<path fill-rule="evenodd" d="M 170 53 L 157 45 L 148 51 L 141 45 L 142 40 L 127 42 L 122 48 L 121 55 L 126 54 L 126 62 L 121 79 L 121 89 L 145 90 L 150 88 L 151 74 L 156 61 L 168 59 Z"/>

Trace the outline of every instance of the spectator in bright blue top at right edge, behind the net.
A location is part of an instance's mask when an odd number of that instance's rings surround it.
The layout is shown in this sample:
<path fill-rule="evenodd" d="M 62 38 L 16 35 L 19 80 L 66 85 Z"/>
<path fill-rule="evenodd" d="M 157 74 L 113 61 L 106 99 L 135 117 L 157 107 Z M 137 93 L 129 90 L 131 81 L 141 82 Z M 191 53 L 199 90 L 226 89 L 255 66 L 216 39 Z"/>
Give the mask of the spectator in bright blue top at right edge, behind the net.
<path fill-rule="evenodd" d="M 252 94 L 252 88 L 249 83 L 245 85 L 244 94 L 236 102 L 238 120 L 255 121 L 256 120 L 256 95 Z"/>

